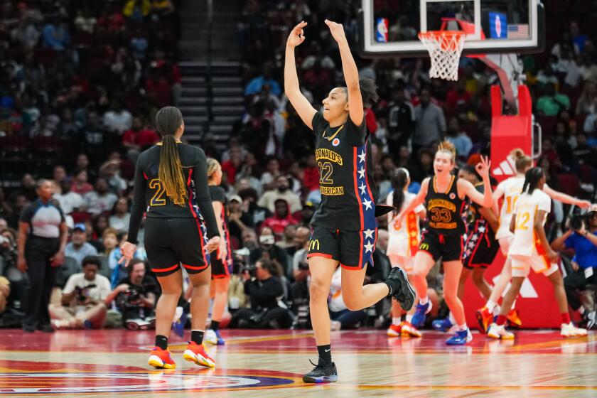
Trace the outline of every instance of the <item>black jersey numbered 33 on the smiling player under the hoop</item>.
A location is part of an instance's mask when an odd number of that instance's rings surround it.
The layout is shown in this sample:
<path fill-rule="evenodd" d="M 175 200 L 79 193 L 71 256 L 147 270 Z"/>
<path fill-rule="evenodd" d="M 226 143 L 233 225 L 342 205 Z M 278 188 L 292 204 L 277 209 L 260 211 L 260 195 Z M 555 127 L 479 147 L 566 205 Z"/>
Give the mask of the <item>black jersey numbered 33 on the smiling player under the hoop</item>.
<path fill-rule="evenodd" d="M 451 176 L 446 192 L 440 193 L 436 186 L 436 177 L 429 180 L 427 195 L 426 229 L 443 235 L 464 235 L 466 225 L 463 213 L 466 200 L 458 198 L 458 177 Z"/>

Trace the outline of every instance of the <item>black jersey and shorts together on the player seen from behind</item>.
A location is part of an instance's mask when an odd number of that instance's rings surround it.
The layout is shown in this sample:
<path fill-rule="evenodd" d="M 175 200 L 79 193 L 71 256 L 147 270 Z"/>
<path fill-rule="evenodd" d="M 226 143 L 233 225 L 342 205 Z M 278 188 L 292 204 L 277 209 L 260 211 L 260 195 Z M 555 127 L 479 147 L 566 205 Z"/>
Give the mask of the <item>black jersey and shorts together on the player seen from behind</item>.
<path fill-rule="evenodd" d="M 210 264 L 205 246 L 210 238 L 220 236 L 208 188 L 205 153 L 181 142 L 176 146 L 187 193 L 183 203 L 173 203 L 158 178 L 161 144 L 139 155 L 135 171 L 128 239 L 136 242 L 145 212 L 145 249 L 157 276 L 176 272 L 179 262 L 190 273 L 203 271 Z"/>

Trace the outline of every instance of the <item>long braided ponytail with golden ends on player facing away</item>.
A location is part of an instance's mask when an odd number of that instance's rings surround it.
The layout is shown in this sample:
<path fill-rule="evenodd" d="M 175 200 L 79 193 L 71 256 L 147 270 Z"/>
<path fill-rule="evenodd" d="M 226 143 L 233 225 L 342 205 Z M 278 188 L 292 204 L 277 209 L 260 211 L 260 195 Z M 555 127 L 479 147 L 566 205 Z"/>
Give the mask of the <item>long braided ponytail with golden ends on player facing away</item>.
<path fill-rule="evenodd" d="M 168 198 L 180 206 L 185 204 L 187 190 L 174 134 L 182 125 L 183 115 L 176 107 L 163 107 L 156 114 L 156 127 L 162 136 L 158 178 Z"/>

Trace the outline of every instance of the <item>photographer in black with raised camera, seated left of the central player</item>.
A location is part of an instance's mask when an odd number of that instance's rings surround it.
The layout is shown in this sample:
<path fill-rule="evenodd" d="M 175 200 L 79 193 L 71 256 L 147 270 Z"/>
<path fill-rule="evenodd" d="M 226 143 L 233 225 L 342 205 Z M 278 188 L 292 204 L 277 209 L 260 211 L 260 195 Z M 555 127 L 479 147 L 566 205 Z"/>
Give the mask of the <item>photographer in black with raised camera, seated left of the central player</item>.
<path fill-rule="evenodd" d="M 292 323 L 289 312 L 278 306 L 278 300 L 284 294 L 280 275 L 279 266 L 269 259 L 259 259 L 254 269 L 244 271 L 244 294 L 249 296 L 251 308 L 236 311 L 230 328 L 289 328 Z"/>

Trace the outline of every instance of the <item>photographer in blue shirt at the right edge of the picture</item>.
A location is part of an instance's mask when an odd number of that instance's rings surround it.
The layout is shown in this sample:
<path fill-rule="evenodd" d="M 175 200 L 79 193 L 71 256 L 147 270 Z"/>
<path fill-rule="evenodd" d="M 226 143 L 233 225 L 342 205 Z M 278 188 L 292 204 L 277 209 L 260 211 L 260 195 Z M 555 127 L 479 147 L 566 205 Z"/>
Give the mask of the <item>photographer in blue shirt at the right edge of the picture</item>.
<path fill-rule="evenodd" d="M 596 326 L 595 311 L 585 311 L 581 306 L 578 290 L 588 284 L 597 284 L 597 205 L 591 205 L 588 213 L 574 215 L 570 229 L 552 242 L 552 249 L 574 249 L 573 272 L 564 278 L 564 289 L 568 302 L 574 311 L 579 311 L 587 323 L 587 328 Z"/>

